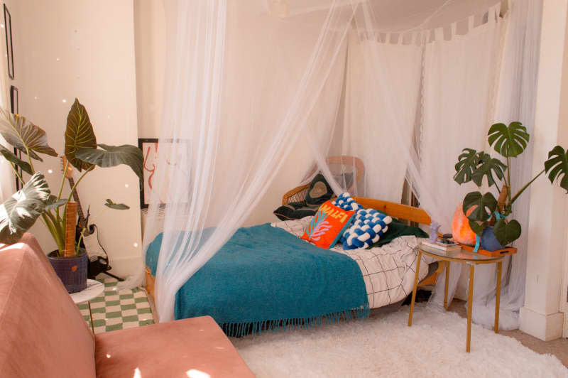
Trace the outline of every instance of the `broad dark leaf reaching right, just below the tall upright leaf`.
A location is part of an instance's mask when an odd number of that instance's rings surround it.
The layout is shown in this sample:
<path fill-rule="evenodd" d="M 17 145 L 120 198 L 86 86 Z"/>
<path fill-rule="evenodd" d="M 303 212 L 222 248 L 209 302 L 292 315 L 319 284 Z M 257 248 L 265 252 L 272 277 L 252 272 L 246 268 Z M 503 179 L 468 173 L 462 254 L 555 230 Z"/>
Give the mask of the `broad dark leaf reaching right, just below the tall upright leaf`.
<path fill-rule="evenodd" d="M 87 163 L 95 164 L 99 167 L 107 168 L 126 164 L 132 171 L 143 180 L 142 166 L 144 157 L 140 148 L 124 144 L 122 146 L 107 146 L 99 144 L 101 148 L 80 148 L 77 151 L 77 158 Z"/>

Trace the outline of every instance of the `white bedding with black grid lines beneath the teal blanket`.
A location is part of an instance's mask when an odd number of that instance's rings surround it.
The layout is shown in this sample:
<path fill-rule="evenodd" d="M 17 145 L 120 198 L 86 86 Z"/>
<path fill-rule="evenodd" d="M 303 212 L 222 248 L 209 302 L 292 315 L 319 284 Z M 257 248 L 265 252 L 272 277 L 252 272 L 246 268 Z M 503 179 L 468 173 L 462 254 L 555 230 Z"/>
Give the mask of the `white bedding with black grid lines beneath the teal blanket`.
<path fill-rule="evenodd" d="M 311 219 L 312 217 L 305 217 L 271 225 L 300 237 Z M 346 254 L 357 262 L 365 281 L 369 306 L 378 308 L 401 301 L 413 291 L 418 244 L 419 238 L 404 236 L 397 237 L 382 247 L 344 251 L 342 244 L 337 244 L 332 251 Z M 427 276 L 428 264 L 433 261 L 431 257 L 422 256 L 418 275 L 420 280 Z"/>

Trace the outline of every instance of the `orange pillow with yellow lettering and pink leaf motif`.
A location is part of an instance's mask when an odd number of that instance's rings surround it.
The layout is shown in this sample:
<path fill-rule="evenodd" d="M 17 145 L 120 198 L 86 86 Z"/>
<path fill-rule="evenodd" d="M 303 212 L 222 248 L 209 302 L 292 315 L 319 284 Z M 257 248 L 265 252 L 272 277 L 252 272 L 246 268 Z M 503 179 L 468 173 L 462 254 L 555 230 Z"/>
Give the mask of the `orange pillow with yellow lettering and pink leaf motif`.
<path fill-rule="evenodd" d="M 317 247 L 329 249 L 351 225 L 354 215 L 355 211 L 343 210 L 333 205 L 331 200 L 324 202 L 304 230 L 302 239 L 314 243 Z"/>

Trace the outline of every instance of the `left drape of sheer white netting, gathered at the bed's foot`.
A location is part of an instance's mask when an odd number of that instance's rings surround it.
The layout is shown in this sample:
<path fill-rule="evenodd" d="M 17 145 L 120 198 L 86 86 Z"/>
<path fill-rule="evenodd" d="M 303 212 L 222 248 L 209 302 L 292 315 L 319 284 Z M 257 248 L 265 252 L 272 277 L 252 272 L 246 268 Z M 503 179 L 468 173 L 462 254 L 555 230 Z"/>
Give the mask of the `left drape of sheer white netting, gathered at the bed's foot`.
<path fill-rule="evenodd" d="M 324 85 L 340 91 L 342 75 L 331 74 L 342 74 L 333 68 L 344 48 L 351 6 L 278 18 L 262 13 L 261 5 L 165 1 L 160 188 L 147 228 L 155 227 L 158 196 L 166 193 L 156 274 L 160 321 L 173 318 L 180 286 L 222 247 L 266 191 L 312 109 L 329 100 L 320 96 Z"/>

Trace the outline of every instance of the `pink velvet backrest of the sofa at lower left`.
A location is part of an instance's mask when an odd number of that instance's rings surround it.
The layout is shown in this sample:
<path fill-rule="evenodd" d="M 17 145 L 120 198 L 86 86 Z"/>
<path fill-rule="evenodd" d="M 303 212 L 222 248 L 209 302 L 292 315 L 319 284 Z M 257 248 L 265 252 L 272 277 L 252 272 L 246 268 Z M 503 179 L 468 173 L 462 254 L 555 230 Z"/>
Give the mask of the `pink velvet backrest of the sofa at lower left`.
<path fill-rule="evenodd" d="M 38 242 L 0 244 L 2 377 L 94 377 L 87 323 Z"/>

